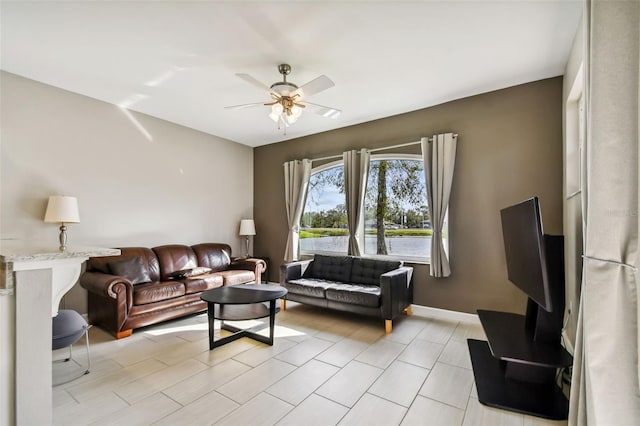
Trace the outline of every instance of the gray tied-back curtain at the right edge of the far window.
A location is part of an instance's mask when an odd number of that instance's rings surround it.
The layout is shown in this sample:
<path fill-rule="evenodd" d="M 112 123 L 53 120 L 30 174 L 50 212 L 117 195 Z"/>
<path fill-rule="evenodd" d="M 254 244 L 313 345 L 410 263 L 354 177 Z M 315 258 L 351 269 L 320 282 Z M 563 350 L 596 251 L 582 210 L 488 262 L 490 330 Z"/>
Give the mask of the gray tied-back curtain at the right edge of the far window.
<path fill-rule="evenodd" d="M 434 135 L 431 141 L 428 138 L 421 139 L 427 202 L 433 229 L 430 269 L 434 277 L 451 275 L 449 259 L 442 241 L 442 227 L 449 208 L 457 141 L 458 135 L 453 133 Z"/>

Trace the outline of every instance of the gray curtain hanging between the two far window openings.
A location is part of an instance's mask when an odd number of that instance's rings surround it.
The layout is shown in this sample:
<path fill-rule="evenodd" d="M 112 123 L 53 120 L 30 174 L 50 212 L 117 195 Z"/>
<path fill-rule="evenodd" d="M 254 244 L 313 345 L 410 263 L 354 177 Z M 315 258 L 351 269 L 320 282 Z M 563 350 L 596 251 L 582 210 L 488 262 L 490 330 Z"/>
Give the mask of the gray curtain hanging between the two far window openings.
<path fill-rule="evenodd" d="M 344 185 L 347 201 L 347 221 L 349 223 L 349 245 L 347 254 L 360 256 L 364 250 L 360 241 L 364 240 L 364 198 L 369 177 L 369 159 L 367 149 L 346 151 L 344 161 Z"/>

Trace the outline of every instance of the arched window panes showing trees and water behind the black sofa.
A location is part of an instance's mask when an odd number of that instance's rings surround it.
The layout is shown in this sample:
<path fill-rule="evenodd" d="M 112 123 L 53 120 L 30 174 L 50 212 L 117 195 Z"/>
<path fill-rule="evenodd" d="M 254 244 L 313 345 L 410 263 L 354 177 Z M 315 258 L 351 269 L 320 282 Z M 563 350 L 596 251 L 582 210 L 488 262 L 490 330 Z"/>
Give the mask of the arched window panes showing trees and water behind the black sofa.
<path fill-rule="evenodd" d="M 342 161 L 312 171 L 300 230 L 303 254 L 346 254 L 349 230 Z M 364 211 L 364 256 L 428 262 L 431 217 L 420 155 L 371 157 Z M 447 221 L 443 229 L 447 247 Z"/>

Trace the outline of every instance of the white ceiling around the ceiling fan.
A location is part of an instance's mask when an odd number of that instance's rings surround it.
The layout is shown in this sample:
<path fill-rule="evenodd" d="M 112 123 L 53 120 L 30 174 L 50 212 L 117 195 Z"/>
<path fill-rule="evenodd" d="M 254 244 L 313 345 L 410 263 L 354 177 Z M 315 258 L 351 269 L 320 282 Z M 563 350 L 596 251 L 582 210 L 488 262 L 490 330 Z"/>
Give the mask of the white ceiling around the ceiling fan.
<path fill-rule="evenodd" d="M 2 1 L 3 70 L 183 126 L 260 146 L 562 75 L 580 0 Z M 309 100 L 283 135 L 268 101 L 277 65 Z"/>

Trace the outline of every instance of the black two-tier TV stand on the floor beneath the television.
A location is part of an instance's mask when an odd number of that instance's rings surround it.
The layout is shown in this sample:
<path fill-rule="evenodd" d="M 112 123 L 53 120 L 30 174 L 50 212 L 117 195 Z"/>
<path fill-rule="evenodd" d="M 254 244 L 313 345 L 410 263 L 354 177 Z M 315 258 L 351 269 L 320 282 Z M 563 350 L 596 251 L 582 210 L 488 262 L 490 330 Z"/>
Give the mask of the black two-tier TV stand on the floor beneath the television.
<path fill-rule="evenodd" d="M 545 235 L 545 244 L 547 253 L 551 252 L 548 261 L 557 259 L 547 264 L 550 275 L 561 280 L 552 286 L 556 309 L 547 312 L 529 299 L 526 316 L 479 310 L 487 341 L 467 342 L 482 404 L 565 420 L 569 402 L 556 384 L 557 369 L 572 363 L 571 355 L 560 344 L 564 314 L 564 277 L 559 268 L 564 264 L 562 237 Z"/>

